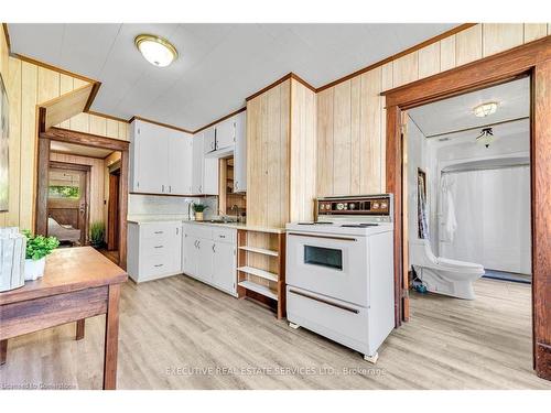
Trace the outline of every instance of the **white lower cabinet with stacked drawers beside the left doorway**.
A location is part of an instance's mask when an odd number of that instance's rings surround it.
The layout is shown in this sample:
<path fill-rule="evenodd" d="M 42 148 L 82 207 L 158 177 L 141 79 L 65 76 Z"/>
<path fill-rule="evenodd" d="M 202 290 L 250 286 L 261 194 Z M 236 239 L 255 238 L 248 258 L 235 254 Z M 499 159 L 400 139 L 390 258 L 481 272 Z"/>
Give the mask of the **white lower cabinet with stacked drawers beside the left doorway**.
<path fill-rule="evenodd" d="M 136 282 L 182 273 L 182 222 L 129 222 L 128 274 Z"/>

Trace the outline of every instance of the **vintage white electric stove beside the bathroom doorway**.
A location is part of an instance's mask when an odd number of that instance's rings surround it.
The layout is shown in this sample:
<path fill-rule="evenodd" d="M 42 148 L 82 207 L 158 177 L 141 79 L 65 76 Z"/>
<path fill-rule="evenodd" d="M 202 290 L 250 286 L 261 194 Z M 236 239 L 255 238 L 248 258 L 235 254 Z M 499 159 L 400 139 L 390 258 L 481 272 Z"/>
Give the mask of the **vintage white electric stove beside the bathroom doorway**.
<path fill-rule="evenodd" d="M 287 225 L 287 318 L 364 354 L 395 327 L 391 194 L 324 197 Z"/>

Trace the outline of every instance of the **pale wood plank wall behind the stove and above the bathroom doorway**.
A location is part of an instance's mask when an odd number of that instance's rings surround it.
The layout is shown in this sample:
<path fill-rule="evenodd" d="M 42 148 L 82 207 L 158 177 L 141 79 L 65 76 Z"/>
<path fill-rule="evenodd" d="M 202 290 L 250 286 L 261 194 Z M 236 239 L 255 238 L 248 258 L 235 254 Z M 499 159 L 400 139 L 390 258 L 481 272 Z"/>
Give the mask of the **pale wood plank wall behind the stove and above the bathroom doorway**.
<path fill-rule="evenodd" d="M 551 24 L 477 24 L 320 91 L 317 195 L 386 191 L 386 112 L 381 91 L 545 35 L 551 35 Z"/>

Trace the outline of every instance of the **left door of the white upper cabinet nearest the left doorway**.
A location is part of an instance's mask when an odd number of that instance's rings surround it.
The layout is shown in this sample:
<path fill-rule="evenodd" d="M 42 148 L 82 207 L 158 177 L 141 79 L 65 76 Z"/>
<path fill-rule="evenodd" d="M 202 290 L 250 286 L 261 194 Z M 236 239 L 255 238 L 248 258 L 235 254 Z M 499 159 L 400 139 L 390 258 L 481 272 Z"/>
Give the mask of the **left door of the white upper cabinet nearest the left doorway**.
<path fill-rule="evenodd" d="M 137 192 L 165 194 L 169 176 L 169 140 L 166 129 L 137 121 L 134 134 Z"/>

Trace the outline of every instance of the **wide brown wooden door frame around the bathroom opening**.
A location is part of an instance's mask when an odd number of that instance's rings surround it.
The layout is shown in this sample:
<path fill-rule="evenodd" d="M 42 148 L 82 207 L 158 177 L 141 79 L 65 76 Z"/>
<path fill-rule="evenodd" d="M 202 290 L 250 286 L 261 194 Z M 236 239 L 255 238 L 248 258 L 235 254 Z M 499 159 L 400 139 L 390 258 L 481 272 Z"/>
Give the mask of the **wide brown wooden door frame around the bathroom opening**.
<path fill-rule="evenodd" d="M 395 316 L 397 327 L 409 318 L 402 273 L 402 111 L 527 75 L 531 81 L 533 368 L 551 380 L 551 36 L 381 94 L 387 109 L 387 192 L 395 194 Z"/>

